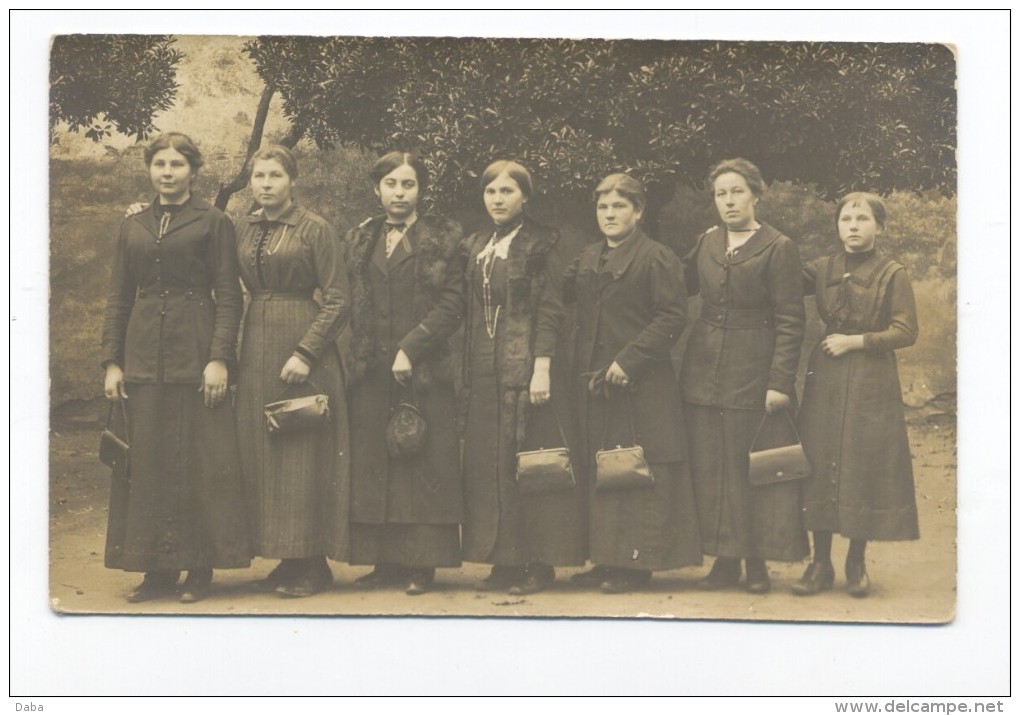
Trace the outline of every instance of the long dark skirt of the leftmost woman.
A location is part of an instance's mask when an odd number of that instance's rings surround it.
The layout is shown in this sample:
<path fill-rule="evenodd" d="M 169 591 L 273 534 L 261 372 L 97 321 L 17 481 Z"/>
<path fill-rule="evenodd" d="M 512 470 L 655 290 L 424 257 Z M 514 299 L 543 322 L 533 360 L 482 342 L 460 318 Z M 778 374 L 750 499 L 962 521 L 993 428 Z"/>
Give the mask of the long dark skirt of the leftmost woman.
<path fill-rule="evenodd" d="M 128 395 L 131 458 L 110 489 L 106 566 L 247 567 L 253 552 L 230 401 L 206 408 L 198 386 L 167 383 L 129 383 Z"/>

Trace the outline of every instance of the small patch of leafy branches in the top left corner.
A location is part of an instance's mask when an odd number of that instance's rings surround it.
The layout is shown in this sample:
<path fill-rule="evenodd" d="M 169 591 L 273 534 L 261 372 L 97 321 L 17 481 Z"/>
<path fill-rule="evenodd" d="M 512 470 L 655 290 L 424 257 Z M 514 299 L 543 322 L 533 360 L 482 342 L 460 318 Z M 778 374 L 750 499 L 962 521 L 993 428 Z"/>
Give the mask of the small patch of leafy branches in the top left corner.
<path fill-rule="evenodd" d="M 60 122 L 99 142 L 114 131 L 136 140 L 177 93 L 184 53 L 169 35 L 61 35 L 50 53 L 50 134 Z"/>

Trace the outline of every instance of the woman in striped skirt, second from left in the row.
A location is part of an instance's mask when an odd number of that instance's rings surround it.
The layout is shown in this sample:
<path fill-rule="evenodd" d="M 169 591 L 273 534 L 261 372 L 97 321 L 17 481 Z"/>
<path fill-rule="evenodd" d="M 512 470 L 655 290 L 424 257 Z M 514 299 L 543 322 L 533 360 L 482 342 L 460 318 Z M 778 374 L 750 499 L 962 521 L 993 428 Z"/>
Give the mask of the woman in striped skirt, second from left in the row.
<path fill-rule="evenodd" d="M 245 314 L 238 426 L 248 516 L 256 554 L 282 560 L 259 589 L 308 597 L 333 581 L 326 557 L 349 548 L 347 400 L 336 339 L 350 313 L 347 270 L 333 226 L 298 204 L 298 165 L 286 147 L 251 161 L 259 209 L 240 222 Z M 314 294 L 318 292 L 318 300 Z M 270 436 L 263 406 L 323 393 L 321 429 Z"/>

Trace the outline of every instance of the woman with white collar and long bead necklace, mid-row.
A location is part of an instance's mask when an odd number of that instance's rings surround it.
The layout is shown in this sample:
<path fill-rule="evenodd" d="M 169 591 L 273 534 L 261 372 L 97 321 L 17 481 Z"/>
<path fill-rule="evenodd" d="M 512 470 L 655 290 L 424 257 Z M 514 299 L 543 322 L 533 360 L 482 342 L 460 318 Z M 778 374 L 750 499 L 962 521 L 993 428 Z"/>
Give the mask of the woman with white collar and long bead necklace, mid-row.
<path fill-rule="evenodd" d="M 493 225 L 468 238 L 464 382 L 464 559 L 493 565 L 481 591 L 528 595 L 556 565 L 584 563 L 583 492 L 524 495 L 517 452 L 563 445 L 569 408 L 553 385 L 562 322 L 559 235 L 528 218 L 531 175 L 490 164 L 482 199 Z M 557 371 L 559 372 L 559 371 Z"/>

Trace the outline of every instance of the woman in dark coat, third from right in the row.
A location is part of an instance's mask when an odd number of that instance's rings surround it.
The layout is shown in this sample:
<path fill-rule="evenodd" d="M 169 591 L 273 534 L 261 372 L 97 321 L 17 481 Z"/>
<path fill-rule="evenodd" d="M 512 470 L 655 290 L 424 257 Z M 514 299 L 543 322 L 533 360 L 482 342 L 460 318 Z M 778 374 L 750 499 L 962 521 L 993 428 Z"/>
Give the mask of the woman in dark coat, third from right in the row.
<path fill-rule="evenodd" d="M 683 439 L 683 411 L 670 360 L 686 323 L 679 259 L 649 239 L 639 222 L 645 190 L 611 174 L 595 190 L 603 241 L 567 269 L 564 296 L 577 304 L 577 412 L 589 480 L 589 549 L 593 569 L 577 583 L 607 594 L 639 589 L 653 570 L 701 564 L 694 488 Z M 653 484 L 620 491 L 596 487 L 596 452 L 644 448 Z"/>

